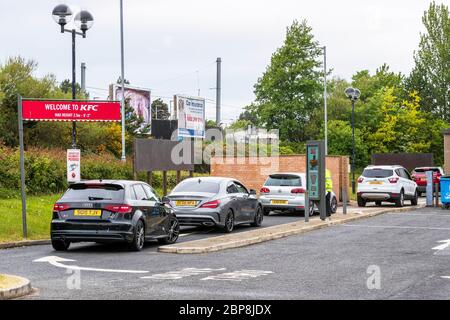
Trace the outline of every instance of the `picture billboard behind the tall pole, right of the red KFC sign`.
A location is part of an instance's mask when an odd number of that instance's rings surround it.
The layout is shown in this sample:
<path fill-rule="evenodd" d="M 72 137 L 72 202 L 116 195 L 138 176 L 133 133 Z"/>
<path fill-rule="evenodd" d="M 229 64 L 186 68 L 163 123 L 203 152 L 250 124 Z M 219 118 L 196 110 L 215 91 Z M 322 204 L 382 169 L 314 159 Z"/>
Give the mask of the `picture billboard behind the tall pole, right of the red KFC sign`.
<path fill-rule="evenodd" d="M 122 101 L 121 85 L 113 84 L 110 86 L 110 97 L 114 100 Z M 136 112 L 138 116 L 144 118 L 145 125 L 150 124 L 152 121 L 150 97 L 150 89 L 125 85 L 125 100 L 129 100 L 130 106 L 134 109 L 134 112 Z"/>

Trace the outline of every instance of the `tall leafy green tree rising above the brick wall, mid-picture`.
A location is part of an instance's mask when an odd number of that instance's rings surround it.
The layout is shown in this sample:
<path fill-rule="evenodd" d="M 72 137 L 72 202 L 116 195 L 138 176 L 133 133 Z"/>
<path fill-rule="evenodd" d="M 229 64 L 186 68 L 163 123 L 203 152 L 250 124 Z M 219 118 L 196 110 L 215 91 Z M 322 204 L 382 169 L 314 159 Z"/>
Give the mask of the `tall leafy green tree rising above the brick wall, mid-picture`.
<path fill-rule="evenodd" d="M 294 21 L 282 47 L 255 85 L 255 114 L 267 129 L 287 141 L 305 141 L 305 127 L 321 105 L 322 48 L 306 23 Z"/>

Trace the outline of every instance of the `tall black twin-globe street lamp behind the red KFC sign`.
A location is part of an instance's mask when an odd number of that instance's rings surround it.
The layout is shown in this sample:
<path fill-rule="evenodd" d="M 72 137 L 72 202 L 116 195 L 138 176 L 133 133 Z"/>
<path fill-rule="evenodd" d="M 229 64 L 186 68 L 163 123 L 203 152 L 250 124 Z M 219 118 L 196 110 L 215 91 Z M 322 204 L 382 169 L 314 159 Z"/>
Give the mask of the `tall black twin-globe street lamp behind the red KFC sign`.
<path fill-rule="evenodd" d="M 78 32 L 75 28 L 72 30 L 66 29 L 65 26 L 72 19 L 72 10 L 65 4 L 57 5 L 53 11 L 52 16 L 57 24 L 61 26 L 61 33 L 69 32 L 72 34 L 72 99 L 76 99 L 76 73 L 75 73 L 75 37 L 80 35 L 86 38 L 86 31 L 94 24 L 94 17 L 86 10 L 81 10 L 75 15 L 75 26 L 81 30 Z M 72 148 L 77 148 L 77 123 L 72 122 Z"/>

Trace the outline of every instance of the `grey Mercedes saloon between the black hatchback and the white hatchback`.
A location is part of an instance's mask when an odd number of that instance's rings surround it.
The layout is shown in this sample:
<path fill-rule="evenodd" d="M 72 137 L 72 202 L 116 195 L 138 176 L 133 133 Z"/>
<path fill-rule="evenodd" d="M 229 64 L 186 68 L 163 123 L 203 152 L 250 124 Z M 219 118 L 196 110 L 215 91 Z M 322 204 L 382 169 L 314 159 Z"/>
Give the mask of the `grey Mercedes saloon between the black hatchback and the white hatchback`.
<path fill-rule="evenodd" d="M 197 177 L 180 182 L 166 197 L 180 225 L 216 226 L 231 232 L 235 225 L 259 227 L 262 206 L 255 190 L 230 178 Z"/>

